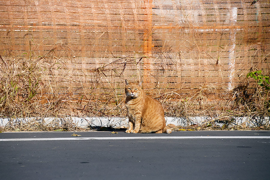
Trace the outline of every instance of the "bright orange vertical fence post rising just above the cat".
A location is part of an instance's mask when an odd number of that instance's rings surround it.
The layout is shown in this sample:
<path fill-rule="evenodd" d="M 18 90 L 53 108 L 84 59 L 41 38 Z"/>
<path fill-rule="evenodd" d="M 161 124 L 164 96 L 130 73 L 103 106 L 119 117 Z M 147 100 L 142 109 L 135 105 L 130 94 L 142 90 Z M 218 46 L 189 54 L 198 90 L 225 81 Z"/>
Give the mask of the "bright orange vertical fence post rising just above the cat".
<path fill-rule="evenodd" d="M 144 0 L 143 9 L 145 9 L 145 26 L 143 31 L 143 81 L 144 86 L 149 86 L 151 82 L 151 56 L 152 56 L 152 0 Z"/>

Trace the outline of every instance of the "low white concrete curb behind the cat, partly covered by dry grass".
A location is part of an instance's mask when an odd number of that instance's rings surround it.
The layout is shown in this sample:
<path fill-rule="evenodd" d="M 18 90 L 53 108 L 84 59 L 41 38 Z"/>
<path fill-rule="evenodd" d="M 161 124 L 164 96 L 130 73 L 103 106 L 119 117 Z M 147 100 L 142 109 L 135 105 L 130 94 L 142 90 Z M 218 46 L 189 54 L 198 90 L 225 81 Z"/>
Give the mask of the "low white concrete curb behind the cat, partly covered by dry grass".
<path fill-rule="evenodd" d="M 231 117 L 232 125 L 243 125 L 253 127 L 260 125 L 269 125 L 270 117 Z M 201 125 L 202 123 L 213 121 L 216 125 L 223 125 L 222 121 L 215 120 L 213 117 L 165 117 L 166 124 L 180 125 L 186 127 L 188 125 L 196 124 Z M 0 126 L 16 125 L 26 123 L 44 123 L 44 125 L 50 124 L 65 124 L 73 123 L 74 125 L 82 128 L 88 126 L 105 126 L 105 127 L 128 127 L 128 118 L 125 117 L 30 117 L 30 118 L 1 118 Z"/>

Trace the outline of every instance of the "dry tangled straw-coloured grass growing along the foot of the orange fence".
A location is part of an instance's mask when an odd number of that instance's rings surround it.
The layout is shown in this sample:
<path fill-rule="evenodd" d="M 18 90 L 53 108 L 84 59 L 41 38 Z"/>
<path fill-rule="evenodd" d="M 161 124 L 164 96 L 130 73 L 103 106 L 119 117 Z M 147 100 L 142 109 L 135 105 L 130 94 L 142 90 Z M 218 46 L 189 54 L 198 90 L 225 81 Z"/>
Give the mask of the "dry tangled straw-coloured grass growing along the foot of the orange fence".
<path fill-rule="evenodd" d="M 61 46 L 63 47 L 63 46 Z M 89 91 L 85 90 L 82 81 L 77 81 L 76 88 L 63 86 L 64 73 L 55 75 L 63 64 L 61 57 L 55 57 L 53 51 L 44 56 L 35 57 L 32 52 L 20 58 L 1 57 L 0 84 L 0 117 L 9 118 L 7 126 L 1 131 L 87 131 L 91 128 L 80 128 L 69 118 L 71 116 L 126 116 L 124 107 L 125 95 L 121 85 L 111 82 L 121 76 L 127 66 L 138 67 L 142 58 L 127 56 L 116 61 L 93 68 L 94 79 Z M 72 55 L 70 55 L 72 57 Z M 71 60 L 71 58 L 70 58 Z M 170 58 L 169 58 L 170 61 Z M 173 64 L 173 63 L 171 63 Z M 137 68 L 140 75 L 142 68 Z M 157 68 L 158 69 L 158 68 Z M 58 71 L 60 71 L 58 70 Z M 137 79 L 134 77 L 134 79 Z M 169 77 L 168 77 L 169 78 Z M 104 92 L 101 79 L 106 79 L 110 87 Z M 72 79 L 65 79 L 68 82 Z M 269 90 L 259 86 L 252 79 L 245 78 L 241 85 L 231 91 L 222 86 L 205 85 L 200 87 L 146 88 L 146 93 L 158 99 L 165 111 L 165 116 L 184 117 L 187 127 L 175 127 L 180 130 L 269 130 L 269 122 L 257 123 L 256 127 L 244 124 L 235 125 L 234 117 L 246 116 L 269 117 Z M 189 93 L 183 93 L 189 92 Z M 216 93 L 216 94 L 215 94 Z M 189 95 L 187 95 L 189 94 Z M 189 120 L 190 116 L 208 116 L 209 121 L 200 125 Z M 17 118 L 38 117 L 31 121 L 18 121 Z M 55 117 L 46 124 L 45 117 Z M 220 125 L 220 123 L 222 125 Z"/>

